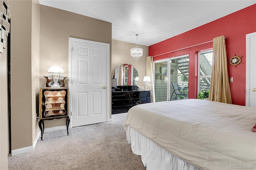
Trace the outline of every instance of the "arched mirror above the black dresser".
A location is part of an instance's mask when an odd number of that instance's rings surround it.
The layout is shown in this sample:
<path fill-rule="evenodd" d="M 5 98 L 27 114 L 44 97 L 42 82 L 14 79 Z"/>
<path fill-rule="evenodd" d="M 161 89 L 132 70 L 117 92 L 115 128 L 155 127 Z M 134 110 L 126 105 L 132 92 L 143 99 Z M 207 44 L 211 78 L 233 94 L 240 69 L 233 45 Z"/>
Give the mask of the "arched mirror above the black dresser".
<path fill-rule="evenodd" d="M 138 71 L 130 64 L 118 65 L 112 75 L 117 86 L 137 85 L 138 77 Z"/>

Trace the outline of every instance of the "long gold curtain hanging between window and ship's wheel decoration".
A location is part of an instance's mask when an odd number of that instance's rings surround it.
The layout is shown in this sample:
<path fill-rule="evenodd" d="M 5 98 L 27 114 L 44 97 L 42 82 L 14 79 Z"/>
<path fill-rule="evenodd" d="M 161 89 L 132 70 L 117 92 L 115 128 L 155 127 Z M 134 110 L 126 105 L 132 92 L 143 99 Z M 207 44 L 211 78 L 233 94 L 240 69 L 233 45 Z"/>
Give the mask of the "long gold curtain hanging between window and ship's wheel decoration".
<path fill-rule="evenodd" d="M 212 78 L 209 100 L 232 104 L 224 36 L 213 39 Z"/>

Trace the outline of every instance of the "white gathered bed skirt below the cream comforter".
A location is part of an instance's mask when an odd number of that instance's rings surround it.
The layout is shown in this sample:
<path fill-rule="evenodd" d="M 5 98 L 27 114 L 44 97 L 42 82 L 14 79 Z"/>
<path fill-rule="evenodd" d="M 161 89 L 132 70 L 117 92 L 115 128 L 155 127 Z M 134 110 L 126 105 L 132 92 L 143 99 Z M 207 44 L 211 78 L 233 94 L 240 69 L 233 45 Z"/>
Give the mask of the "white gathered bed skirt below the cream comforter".
<path fill-rule="evenodd" d="M 141 156 L 142 163 L 147 170 L 199 170 L 194 165 L 164 150 L 134 128 L 128 126 L 126 138 L 131 144 L 132 152 Z"/>

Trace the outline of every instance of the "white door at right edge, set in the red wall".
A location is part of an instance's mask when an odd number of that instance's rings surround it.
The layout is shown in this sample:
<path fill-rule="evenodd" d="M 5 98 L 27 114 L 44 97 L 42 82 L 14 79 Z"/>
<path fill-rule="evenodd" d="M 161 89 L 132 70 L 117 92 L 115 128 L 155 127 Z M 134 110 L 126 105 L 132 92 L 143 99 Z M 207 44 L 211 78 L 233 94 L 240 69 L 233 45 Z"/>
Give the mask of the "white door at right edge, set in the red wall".
<path fill-rule="evenodd" d="M 246 106 L 256 107 L 256 32 L 246 35 Z"/>

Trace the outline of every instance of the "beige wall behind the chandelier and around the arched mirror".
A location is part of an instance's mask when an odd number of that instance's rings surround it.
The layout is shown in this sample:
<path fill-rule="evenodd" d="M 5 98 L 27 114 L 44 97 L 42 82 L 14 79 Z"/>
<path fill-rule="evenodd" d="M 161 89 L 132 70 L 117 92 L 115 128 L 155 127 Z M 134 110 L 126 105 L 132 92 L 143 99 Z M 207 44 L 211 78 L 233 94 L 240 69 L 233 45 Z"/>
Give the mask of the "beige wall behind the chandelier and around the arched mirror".
<path fill-rule="evenodd" d="M 112 40 L 112 67 L 111 67 L 111 76 L 114 72 L 114 69 L 124 63 L 133 65 L 139 74 L 138 87 L 144 87 L 143 78 L 146 76 L 146 57 L 148 57 L 148 46 L 139 45 L 143 49 L 143 55 L 136 62 L 135 59 L 131 56 L 131 48 L 136 47 L 134 43 L 124 43 L 118 40 Z"/>

